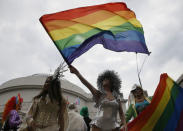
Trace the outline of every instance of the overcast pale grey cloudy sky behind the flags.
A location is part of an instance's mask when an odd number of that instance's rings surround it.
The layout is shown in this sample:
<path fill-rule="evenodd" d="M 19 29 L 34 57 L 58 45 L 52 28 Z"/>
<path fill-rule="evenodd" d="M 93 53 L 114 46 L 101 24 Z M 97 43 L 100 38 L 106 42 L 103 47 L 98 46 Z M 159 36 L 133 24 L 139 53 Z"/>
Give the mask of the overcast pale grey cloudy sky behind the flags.
<path fill-rule="evenodd" d="M 62 57 L 39 22 L 44 14 L 112 0 L 0 0 L 0 84 L 37 73 L 52 73 Z M 119 1 L 119 0 L 118 0 Z M 153 95 L 161 73 L 174 80 L 183 73 L 183 1 L 125 0 L 143 25 L 151 55 L 143 66 L 143 88 Z M 139 3 L 140 2 L 140 3 Z M 138 54 L 139 65 L 147 55 Z M 138 83 L 135 53 L 112 52 L 94 46 L 73 65 L 96 86 L 99 73 L 112 69 L 122 79 L 122 92 L 127 98 Z M 65 78 L 86 88 L 69 71 Z M 86 90 L 88 91 L 88 90 Z"/>

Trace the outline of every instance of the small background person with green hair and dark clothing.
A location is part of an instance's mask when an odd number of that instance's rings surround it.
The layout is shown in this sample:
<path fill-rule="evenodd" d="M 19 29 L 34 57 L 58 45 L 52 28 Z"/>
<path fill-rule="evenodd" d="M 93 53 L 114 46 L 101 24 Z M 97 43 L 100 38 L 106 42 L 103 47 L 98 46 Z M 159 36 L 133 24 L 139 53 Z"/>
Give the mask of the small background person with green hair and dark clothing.
<path fill-rule="evenodd" d="M 87 131 L 90 131 L 90 122 L 91 119 L 89 117 L 89 113 L 88 113 L 88 107 L 84 106 L 81 108 L 80 110 L 80 115 L 83 116 L 83 119 L 87 125 Z"/>

